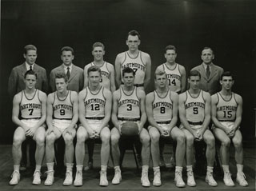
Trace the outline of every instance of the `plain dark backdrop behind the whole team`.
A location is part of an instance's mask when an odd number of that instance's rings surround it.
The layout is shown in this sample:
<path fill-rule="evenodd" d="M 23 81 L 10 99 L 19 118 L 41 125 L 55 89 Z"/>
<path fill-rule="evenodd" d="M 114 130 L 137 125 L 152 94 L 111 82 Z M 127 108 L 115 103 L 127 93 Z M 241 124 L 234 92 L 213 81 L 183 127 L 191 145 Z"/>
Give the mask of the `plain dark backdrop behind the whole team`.
<path fill-rule="evenodd" d="M 200 64 L 201 50 L 215 51 L 214 63 L 235 74 L 234 91 L 244 100 L 242 133 L 254 137 L 255 105 L 255 1 L 174 0 L 34 0 L 6 1 L 1 6 L 1 122 L 2 143 L 11 143 L 14 124 L 7 82 L 14 66 L 23 62 L 23 47 L 38 47 L 37 63 L 50 70 L 59 66 L 60 48 L 74 47 L 74 64 L 82 68 L 92 60 L 94 42 L 106 46 L 105 59 L 126 50 L 126 34 L 138 30 L 140 49 L 155 68 L 165 62 L 165 46 L 178 49 L 178 63 L 189 71 Z M 150 86 L 147 90 L 153 90 Z"/>

